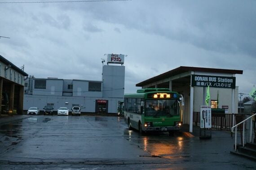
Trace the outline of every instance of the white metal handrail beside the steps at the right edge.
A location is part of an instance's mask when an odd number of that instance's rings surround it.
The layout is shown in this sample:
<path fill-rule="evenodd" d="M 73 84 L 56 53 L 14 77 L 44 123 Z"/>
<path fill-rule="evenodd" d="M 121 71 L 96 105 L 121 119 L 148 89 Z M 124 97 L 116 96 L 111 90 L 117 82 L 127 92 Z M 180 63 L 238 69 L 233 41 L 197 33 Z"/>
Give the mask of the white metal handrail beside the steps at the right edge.
<path fill-rule="evenodd" d="M 254 112 L 255 113 L 255 112 Z M 235 151 L 237 149 L 237 127 L 239 125 L 241 125 L 243 123 L 243 137 L 242 137 L 242 140 L 243 140 L 243 147 L 244 147 L 244 138 L 245 138 L 245 123 L 247 122 L 247 120 L 250 120 L 250 142 L 252 142 L 252 117 L 254 117 L 256 114 L 248 117 L 247 119 L 243 120 L 242 122 L 234 125 L 231 129 L 232 129 L 232 132 L 234 131 L 234 128 L 235 128 Z"/>

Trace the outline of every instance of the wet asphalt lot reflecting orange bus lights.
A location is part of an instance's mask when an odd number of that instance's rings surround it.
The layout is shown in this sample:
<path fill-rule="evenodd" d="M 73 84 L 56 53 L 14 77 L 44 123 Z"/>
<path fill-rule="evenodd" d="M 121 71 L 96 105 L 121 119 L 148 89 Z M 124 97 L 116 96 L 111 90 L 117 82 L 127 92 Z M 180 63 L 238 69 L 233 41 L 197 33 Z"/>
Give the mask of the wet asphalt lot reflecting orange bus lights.
<path fill-rule="evenodd" d="M 140 135 L 123 117 L 20 115 L 0 119 L 0 169 L 256 168 L 230 154 L 230 132 L 212 131 L 210 140 L 200 140 L 197 127 L 194 137 L 186 134 Z"/>

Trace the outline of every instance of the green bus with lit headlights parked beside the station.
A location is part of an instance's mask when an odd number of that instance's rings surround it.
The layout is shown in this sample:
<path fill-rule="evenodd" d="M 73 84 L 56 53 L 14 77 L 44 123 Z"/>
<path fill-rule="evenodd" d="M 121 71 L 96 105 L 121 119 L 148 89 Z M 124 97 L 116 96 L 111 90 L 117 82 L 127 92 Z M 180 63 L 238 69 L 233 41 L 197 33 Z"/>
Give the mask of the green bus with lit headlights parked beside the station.
<path fill-rule="evenodd" d="M 180 130 L 182 96 L 165 88 L 138 89 L 124 95 L 124 120 L 129 129 L 170 134 Z"/>

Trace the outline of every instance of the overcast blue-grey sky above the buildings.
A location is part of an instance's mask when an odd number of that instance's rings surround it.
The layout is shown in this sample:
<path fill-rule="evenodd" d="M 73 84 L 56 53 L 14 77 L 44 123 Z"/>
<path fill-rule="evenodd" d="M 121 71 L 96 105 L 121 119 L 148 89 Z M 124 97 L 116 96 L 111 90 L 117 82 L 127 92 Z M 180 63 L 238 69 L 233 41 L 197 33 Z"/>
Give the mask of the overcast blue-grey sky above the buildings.
<path fill-rule="evenodd" d="M 0 55 L 37 78 L 100 81 L 114 53 L 128 55 L 125 93 L 180 66 L 243 70 L 239 93 L 256 84 L 256 0 L 0 4 L 0 36 Z"/>

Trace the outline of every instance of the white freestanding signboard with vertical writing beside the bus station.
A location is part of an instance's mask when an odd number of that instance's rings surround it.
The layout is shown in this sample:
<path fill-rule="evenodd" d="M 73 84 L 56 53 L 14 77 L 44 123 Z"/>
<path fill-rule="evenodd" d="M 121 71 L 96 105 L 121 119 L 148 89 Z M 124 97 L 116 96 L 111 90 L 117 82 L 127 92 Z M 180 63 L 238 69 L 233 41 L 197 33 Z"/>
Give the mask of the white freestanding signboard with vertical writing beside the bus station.
<path fill-rule="evenodd" d="M 211 127 L 212 127 L 211 106 L 200 106 L 200 128 L 211 128 Z"/>

